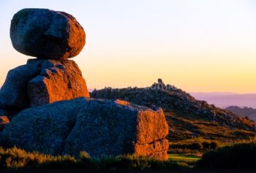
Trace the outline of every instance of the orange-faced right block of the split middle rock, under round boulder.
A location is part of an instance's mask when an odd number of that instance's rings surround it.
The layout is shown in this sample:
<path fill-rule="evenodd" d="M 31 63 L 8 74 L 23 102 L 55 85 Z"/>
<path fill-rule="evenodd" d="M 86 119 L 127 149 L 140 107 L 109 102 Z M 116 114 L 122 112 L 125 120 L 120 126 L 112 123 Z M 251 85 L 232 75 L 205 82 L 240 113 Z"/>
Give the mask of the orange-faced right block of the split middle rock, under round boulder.
<path fill-rule="evenodd" d="M 29 81 L 27 88 L 31 107 L 81 96 L 89 97 L 82 72 L 71 60 L 42 61 L 41 73 Z"/>

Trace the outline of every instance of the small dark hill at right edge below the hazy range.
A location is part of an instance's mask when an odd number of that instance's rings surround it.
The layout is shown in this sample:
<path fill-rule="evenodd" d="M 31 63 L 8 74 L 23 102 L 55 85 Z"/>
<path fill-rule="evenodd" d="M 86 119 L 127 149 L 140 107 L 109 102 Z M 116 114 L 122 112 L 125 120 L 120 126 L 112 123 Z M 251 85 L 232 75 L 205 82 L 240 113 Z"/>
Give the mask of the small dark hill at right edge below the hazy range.
<path fill-rule="evenodd" d="M 251 120 L 256 120 L 256 109 L 253 109 L 252 107 L 226 107 L 225 109 L 235 113 L 236 115 L 239 115 L 241 117 L 248 117 Z"/>

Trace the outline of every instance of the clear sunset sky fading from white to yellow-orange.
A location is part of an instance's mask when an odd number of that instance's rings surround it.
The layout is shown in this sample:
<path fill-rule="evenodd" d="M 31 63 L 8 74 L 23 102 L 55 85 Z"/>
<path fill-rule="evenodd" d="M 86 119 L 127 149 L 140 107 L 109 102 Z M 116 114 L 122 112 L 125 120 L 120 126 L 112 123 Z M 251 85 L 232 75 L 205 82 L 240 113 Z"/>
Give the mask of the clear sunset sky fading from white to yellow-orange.
<path fill-rule="evenodd" d="M 0 86 L 26 64 L 10 40 L 23 8 L 73 15 L 86 31 L 76 61 L 90 89 L 146 87 L 158 78 L 187 92 L 256 93 L 256 1 L 0 1 Z"/>

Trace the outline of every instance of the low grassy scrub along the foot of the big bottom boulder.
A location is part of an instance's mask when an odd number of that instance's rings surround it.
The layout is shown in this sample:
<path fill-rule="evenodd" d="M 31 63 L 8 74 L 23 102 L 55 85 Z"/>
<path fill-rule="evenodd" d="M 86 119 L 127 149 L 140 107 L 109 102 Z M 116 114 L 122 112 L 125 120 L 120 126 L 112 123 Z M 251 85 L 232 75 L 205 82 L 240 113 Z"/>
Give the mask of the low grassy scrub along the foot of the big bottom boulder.
<path fill-rule="evenodd" d="M 0 147 L 0 169 L 188 169 L 175 161 L 157 161 L 135 155 L 116 158 L 90 158 L 81 152 L 79 158 L 70 155 L 43 155 L 29 153 L 17 147 Z"/>

